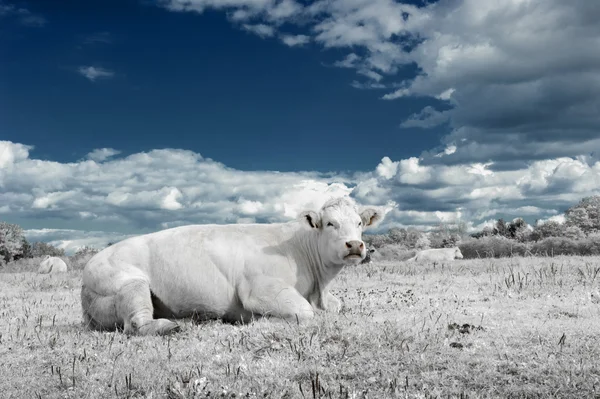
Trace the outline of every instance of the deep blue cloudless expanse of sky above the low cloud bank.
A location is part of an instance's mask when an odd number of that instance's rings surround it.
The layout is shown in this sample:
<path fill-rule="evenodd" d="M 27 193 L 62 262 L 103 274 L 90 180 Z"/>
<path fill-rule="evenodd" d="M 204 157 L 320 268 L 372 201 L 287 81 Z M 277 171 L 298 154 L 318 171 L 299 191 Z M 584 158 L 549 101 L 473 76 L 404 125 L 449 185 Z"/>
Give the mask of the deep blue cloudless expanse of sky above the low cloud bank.
<path fill-rule="evenodd" d="M 4 138 L 34 145 L 34 156 L 69 162 L 102 147 L 185 148 L 245 170 L 366 171 L 383 152 L 401 158 L 439 144 L 443 129 L 399 127 L 435 100 L 390 102 L 381 90 L 353 88 L 368 78 L 333 66 L 345 51 L 263 39 L 219 11 L 17 4 L 47 22 L 33 29 L 3 19 L 10 62 L 0 118 Z M 90 81 L 78 72 L 88 65 L 111 76 Z M 407 65 L 394 79 L 415 74 Z"/>

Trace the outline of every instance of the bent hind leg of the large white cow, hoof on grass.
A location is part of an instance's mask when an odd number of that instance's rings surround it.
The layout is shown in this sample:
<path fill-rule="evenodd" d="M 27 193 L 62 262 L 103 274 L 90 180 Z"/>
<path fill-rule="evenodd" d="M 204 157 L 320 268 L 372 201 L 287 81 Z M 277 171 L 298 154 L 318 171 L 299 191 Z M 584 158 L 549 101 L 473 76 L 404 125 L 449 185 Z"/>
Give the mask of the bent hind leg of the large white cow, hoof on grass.
<path fill-rule="evenodd" d="M 152 318 L 150 285 L 145 280 L 125 282 L 117 293 L 116 308 L 126 333 L 165 335 L 179 331 L 177 323 L 171 320 Z"/>

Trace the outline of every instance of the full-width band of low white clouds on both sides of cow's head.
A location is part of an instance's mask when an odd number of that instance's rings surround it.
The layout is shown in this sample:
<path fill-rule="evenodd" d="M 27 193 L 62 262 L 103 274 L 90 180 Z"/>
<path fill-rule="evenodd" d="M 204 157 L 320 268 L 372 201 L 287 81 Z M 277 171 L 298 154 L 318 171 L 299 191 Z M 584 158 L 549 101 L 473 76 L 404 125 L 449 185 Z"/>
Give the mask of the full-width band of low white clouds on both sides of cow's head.
<path fill-rule="evenodd" d="M 282 222 L 339 196 L 387 213 L 375 231 L 440 222 L 476 228 L 518 216 L 532 223 L 562 214 L 600 187 L 600 162 L 585 157 L 511 170 L 383 157 L 373 170 L 348 175 L 242 171 L 178 149 L 68 163 L 31 158 L 30 149 L 0 142 L 0 217 L 38 229 L 68 225 L 61 237 L 73 248 L 87 237 L 73 231 L 115 232 L 107 238 L 114 241 L 114 234 L 193 223 Z"/>

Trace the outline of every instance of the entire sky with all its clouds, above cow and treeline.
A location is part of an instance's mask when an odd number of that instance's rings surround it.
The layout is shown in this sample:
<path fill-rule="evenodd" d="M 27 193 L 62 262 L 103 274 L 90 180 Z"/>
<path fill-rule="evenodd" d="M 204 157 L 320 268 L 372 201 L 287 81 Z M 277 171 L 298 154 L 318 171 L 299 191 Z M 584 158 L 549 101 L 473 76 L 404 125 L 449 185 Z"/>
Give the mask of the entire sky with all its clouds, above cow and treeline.
<path fill-rule="evenodd" d="M 558 218 L 600 188 L 586 0 L 0 0 L 0 220 L 65 248 L 274 222 Z"/>

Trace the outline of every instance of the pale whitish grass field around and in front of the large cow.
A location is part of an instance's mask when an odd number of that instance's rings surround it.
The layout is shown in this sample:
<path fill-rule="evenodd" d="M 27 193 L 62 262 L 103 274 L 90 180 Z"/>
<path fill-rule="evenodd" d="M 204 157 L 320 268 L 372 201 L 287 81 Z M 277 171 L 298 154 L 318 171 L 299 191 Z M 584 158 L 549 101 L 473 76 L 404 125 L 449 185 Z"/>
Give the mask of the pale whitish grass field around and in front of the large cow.
<path fill-rule="evenodd" d="M 1 270 L 1 269 L 0 269 Z M 88 331 L 81 271 L 0 272 L 2 398 L 600 397 L 600 258 L 380 262 L 340 314 Z"/>

